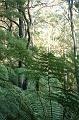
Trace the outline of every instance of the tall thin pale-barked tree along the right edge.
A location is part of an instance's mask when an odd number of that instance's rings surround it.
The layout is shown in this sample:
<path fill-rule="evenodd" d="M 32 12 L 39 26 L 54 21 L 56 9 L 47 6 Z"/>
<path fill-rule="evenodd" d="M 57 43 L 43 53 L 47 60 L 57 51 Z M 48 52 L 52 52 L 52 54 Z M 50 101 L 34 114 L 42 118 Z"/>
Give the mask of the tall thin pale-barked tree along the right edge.
<path fill-rule="evenodd" d="M 74 11 L 73 8 L 78 8 L 78 1 L 68 0 L 68 10 L 69 10 L 69 21 L 70 21 L 70 28 L 71 28 L 71 37 L 73 40 L 73 61 L 74 61 L 74 76 L 77 82 L 77 91 L 79 93 L 79 75 L 78 75 L 78 51 L 77 51 L 77 38 L 75 34 L 75 24 L 74 24 Z"/>

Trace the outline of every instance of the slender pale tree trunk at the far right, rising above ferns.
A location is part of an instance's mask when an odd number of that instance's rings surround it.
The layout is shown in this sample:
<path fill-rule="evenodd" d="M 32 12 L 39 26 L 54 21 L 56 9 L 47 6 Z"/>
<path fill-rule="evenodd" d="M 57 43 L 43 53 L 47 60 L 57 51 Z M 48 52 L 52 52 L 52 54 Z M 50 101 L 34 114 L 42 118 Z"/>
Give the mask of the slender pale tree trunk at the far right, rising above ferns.
<path fill-rule="evenodd" d="M 73 39 L 73 47 L 74 47 L 74 67 L 75 67 L 75 78 L 77 82 L 77 91 L 79 93 L 79 76 L 78 76 L 78 67 L 77 67 L 77 46 L 76 46 L 76 38 L 73 24 L 73 0 L 69 0 L 69 17 L 70 17 L 70 25 L 71 25 L 71 34 Z"/>

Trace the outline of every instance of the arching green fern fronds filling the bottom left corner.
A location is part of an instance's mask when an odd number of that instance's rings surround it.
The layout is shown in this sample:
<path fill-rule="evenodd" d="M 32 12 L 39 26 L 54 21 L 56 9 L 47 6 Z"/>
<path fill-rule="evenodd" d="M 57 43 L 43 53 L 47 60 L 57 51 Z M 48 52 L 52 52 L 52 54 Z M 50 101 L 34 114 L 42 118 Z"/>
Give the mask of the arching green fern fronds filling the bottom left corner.
<path fill-rule="evenodd" d="M 0 119 L 35 120 L 22 91 L 0 80 Z"/>

